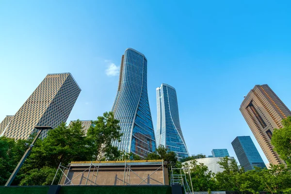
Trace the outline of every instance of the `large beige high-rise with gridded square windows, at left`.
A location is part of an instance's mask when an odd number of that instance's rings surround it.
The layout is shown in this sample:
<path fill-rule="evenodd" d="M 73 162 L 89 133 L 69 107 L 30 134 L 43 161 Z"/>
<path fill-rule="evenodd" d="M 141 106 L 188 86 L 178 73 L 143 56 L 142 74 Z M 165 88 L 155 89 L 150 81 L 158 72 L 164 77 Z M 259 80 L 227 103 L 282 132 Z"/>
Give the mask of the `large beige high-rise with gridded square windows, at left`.
<path fill-rule="evenodd" d="M 56 128 L 66 122 L 81 88 L 70 73 L 48 74 L 2 132 L 4 136 L 27 139 L 34 126 Z M 44 138 L 44 130 L 41 137 Z"/>

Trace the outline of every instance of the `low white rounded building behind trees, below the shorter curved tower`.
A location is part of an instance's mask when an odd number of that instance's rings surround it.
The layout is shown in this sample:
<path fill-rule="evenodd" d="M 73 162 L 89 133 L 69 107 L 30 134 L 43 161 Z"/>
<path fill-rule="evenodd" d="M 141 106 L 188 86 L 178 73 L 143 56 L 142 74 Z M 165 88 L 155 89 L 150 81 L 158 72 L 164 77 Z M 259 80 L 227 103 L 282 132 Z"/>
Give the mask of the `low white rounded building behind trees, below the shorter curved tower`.
<path fill-rule="evenodd" d="M 220 162 L 221 158 L 223 157 L 213 157 L 213 158 L 200 158 L 200 159 L 195 159 L 197 163 L 203 163 L 208 167 L 208 170 L 211 170 L 212 173 L 218 173 L 218 172 L 223 172 L 224 169 L 220 167 L 220 165 L 217 162 Z M 234 159 L 233 157 L 228 157 L 229 159 Z M 182 164 L 190 164 L 191 161 L 187 162 L 182 162 Z"/>

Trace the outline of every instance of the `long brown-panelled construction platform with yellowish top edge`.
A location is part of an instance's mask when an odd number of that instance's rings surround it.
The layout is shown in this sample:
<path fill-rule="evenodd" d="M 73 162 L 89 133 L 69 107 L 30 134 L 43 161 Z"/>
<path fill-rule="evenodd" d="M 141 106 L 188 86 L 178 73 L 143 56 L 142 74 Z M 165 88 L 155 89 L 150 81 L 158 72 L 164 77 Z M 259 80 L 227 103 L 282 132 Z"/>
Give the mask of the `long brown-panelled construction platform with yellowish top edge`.
<path fill-rule="evenodd" d="M 169 185 L 162 160 L 90 161 L 59 165 L 59 185 Z M 57 173 L 56 173 L 57 175 Z"/>

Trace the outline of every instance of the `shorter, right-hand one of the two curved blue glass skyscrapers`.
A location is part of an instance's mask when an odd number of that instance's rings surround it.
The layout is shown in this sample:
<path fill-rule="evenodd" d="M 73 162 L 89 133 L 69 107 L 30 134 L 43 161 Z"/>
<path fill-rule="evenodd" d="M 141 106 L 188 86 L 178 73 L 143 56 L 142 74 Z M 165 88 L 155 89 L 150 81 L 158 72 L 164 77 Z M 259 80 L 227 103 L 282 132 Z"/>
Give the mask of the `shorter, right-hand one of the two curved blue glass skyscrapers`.
<path fill-rule="evenodd" d="M 180 127 L 178 100 L 175 88 L 162 83 L 157 88 L 157 145 L 174 151 L 178 159 L 189 156 Z"/>

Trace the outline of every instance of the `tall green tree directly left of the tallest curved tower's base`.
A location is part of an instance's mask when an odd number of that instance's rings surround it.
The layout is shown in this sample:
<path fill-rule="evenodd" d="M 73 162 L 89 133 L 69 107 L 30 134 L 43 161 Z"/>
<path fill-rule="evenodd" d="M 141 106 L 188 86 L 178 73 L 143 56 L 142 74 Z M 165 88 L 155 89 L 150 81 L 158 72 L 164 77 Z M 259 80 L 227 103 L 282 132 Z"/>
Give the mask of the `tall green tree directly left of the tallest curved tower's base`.
<path fill-rule="evenodd" d="M 95 160 L 113 160 L 120 157 L 120 152 L 112 146 L 112 141 L 120 141 L 119 121 L 114 118 L 113 112 L 98 116 L 87 131 L 88 139 L 93 143 Z"/>

